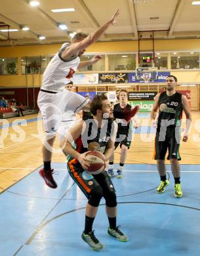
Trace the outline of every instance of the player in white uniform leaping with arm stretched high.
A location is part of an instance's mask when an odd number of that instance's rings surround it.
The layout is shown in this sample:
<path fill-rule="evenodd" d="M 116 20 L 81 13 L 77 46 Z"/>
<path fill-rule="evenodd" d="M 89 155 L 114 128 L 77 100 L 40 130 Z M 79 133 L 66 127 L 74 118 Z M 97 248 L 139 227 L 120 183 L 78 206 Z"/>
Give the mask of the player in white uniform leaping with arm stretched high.
<path fill-rule="evenodd" d="M 77 112 L 83 109 L 84 106 L 89 108 L 87 106 L 88 101 L 84 97 L 63 90 L 66 78 L 70 79 L 77 69 L 94 64 L 102 58 L 100 55 L 96 55 L 91 60 L 80 62 L 79 57 L 85 52 L 87 47 L 99 39 L 111 25 L 115 24 L 118 15 L 119 10 L 115 12 L 104 26 L 88 36 L 85 33 L 76 33 L 71 43 L 62 45 L 62 48 L 52 58 L 43 74 L 43 83 L 38 95 L 37 104 L 43 117 L 47 136 L 42 148 L 44 168 L 39 171 L 39 174 L 50 188 L 57 187 L 52 177 L 53 170 L 51 169 L 50 161 L 52 158 L 52 145 L 55 140 L 56 131 L 60 126 L 60 118 L 68 110 Z"/>

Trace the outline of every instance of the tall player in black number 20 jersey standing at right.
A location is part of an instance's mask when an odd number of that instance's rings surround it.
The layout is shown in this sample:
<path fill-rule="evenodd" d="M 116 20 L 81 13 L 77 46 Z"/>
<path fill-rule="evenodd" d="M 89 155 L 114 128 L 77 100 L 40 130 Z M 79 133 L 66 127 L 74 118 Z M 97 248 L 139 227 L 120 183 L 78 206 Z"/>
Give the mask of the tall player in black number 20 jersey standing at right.
<path fill-rule="evenodd" d="M 168 149 L 169 155 L 167 159 L 170 160 L 174 176 L 174 196 L 180 198 L 182 196 L 182 188 L 180 185 L 180 165 L 178 161 L 181 160 L 179 147 L 182 110 L 184 110 L 186 114 L 184 142 L 188 140 L 188 132 L 191 125 L 191 112 L 186 96 L 176 92 L 176 85 L 177 78 L 174 75 L 169 75 L 167 77 L 166 91 L 155 96 L 151 119 L 155 119 L 157 110 L 159 110 L 154 154 L 154 159 L 157 160 L 157 169 L 161 177 L 157 193 L 165 192 L 166 186 L 169 185 L 165 169 L 165 155 Z"/>

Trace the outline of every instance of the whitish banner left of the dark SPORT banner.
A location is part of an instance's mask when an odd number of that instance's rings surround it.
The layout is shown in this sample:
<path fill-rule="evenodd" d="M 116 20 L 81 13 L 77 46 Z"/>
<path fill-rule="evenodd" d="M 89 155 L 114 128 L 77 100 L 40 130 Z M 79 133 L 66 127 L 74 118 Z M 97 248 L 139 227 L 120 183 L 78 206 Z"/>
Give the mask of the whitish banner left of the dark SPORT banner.
<path fill-rule="evenodd" d="M 98 84 L 98 74 L 75 73 L 71 80 L 74 85 L 96 85 Z"/>

